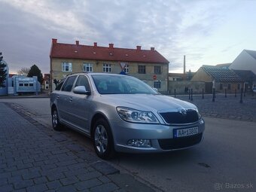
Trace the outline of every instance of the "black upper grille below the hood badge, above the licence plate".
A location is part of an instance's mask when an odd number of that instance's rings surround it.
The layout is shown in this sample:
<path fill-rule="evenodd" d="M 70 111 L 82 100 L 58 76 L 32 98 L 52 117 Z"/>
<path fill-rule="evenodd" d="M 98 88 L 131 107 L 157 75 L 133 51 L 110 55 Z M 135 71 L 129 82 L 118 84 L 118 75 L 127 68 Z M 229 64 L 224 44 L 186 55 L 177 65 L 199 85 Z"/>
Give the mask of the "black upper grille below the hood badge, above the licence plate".
<path fill-rule="evenodd" d="M 183 124 L 183 123 L 194 123 L 198 120 L 197 111 L 187 110 L 187 114 L 181 114 L 178 111 L 160 113 L 166 123 L 169 124 Z"/>

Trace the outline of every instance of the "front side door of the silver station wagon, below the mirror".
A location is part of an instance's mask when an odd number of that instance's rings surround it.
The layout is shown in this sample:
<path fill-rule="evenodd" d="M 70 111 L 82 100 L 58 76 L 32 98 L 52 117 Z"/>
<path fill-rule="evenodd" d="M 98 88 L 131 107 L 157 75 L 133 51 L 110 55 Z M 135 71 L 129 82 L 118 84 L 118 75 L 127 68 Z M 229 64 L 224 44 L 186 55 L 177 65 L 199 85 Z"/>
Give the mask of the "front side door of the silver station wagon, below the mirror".
<path fill-rule="evenodd" d="M 75 83 L 75 87 L 77 86 L 84 86 L 87 91 L 91 90 L 90 82 L 86 75 L 78 76 L 78 80 Z M 74 115 L 72 123 L 85 133 L 89 133 L 88 120 L 91 108 L 91 98 L 92 96 L 90 95 L 72 93 L 72 108 L 74 108 L 72 111 Z"/>

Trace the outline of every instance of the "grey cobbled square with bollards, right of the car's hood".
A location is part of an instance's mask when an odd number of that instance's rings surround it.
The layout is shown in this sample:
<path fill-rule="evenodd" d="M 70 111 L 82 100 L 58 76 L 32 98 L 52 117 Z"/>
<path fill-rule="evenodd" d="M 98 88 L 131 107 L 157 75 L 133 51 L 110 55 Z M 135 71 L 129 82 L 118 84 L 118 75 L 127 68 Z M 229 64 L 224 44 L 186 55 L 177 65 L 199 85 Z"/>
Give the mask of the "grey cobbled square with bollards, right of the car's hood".
<path fill-rule="evenodd" d="M 246 120 L 256 122 L 256 96 L 246 95 L 242 97 L 240 103 L 240 95 L 217 94 L 215 102 L 212 102 L 212 95 L 206 95 L 202 99 L 202 95 L 194 95 L 193 101 L 189 100 L 188 96 L 176 96 L 178 99 L 192 102 L 200 110 L 200 113 L 205 117 L 218 117 L 230 120 Z"/>

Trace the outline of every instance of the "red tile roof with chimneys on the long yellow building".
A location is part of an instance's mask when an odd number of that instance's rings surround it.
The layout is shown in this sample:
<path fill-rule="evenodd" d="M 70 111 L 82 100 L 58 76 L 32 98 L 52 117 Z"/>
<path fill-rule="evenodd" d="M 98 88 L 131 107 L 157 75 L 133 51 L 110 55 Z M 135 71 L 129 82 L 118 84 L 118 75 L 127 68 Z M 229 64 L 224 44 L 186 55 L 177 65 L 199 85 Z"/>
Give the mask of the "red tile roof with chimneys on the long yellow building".
<path fill-rule="evenodd" d="M 114 44 L 109 44 L 109 47 L 99 47 L 96 43 L 94 46 L 81 45 L 79 41 L 76 41 L 76 44 L 62 44 L 57 43 L 56 39 L 52 42 L 50 58 L 169 63 L 157 50 L 154 50 L 154 47 L 151 47 L 151 50 L 142 50 L 140 46 L 137 46 L 137 49 L 116 48 Z"/>

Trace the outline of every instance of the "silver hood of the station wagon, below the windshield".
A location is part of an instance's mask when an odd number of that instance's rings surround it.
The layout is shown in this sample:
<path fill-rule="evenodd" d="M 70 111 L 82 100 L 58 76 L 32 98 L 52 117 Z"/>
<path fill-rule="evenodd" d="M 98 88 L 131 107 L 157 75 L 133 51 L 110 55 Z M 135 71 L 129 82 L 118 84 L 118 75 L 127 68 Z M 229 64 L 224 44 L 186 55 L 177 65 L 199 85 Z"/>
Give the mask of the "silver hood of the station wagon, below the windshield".
<path fill-rule="evenodd" d="M 171 96 L 152 94 L 101 95 L 102 102 L 109 105 L 134 108 L 141 111 L 178 111 L 178 108 L 195 109 L 195 105 Z M 176 110 L 175 110 L 176 109 Z"/>

